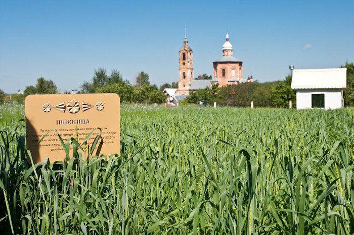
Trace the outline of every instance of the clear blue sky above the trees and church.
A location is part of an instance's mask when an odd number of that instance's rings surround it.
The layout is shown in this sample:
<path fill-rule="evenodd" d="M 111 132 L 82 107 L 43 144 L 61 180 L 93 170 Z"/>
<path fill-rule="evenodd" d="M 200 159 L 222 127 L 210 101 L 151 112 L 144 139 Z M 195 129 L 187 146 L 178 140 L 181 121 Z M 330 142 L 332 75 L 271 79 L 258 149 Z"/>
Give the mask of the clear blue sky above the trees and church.
<path fill-rule="evenodd" d="M 354 1 L 0 1 L 0 89 L 39 77 L 78 89 L 100 67 L 176 82 L 185 20 L 195 77 L 212 75 L 227 30 L 243 78 L 338 68 L 354 62 L 353 10 Z"/>

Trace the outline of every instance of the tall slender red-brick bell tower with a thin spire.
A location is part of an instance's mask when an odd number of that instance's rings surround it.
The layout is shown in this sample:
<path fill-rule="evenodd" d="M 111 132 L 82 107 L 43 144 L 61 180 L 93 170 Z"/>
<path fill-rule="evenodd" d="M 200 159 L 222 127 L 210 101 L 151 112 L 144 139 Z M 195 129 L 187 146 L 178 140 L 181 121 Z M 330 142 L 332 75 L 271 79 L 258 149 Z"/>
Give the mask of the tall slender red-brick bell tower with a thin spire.
<path fill-rule="evenodd" d="M 193 51 L 188 45 L 186 27 L 185 27 L 185 40 L 180 50 L 180 68 L 178 89 L 176 95 L 189 95 L 189 86 L 191 81 L 194 80 L 193 71 Z"/>

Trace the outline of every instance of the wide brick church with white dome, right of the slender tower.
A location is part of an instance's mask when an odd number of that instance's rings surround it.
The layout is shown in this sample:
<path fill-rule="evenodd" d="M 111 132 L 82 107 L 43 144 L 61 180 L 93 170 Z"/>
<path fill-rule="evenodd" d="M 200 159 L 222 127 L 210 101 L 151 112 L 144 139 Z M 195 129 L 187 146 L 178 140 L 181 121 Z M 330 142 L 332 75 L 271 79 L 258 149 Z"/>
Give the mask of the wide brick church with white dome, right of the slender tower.
<path fill-rule="evenodd" d="M 219 83 L 219 87 L 242 82 L 242 61 L 233 56 L 228 33 L 223 45 L 223 56 L 213 62 L 213 68 L 213 77 Z M 249 80 L 247 79 L 248 82 L 252 82 Z"/>

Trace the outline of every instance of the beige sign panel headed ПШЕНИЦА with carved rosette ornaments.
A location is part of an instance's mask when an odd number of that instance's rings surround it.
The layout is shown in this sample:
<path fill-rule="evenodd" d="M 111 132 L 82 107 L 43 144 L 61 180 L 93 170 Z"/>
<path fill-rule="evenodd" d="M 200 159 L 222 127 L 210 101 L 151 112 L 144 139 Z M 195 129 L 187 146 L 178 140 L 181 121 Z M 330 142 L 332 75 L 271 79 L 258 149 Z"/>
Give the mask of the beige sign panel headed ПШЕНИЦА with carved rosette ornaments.
<path fill-rule="evenodd" d="M 83 145 L 85 138 L 96 128 L 101 128 L 93 155 L 120 155 L 120 105 L 117 94 L 64 94 L 29 95 L 25 100 L 27 150 L 34 163 L 49 158 L 51 162 L 63 161 L 65 150 L 58 134 L 66 143 L 74 137 L 83 150 L 83 158 L 89 155 L 96 130 Z M 56 132 L 51 132 L 56 130 Z M 47 134 L 48 133 L 48 134 Z M 47 136 L 38 143 L 44 136 Z M 82 150 L 78 150 L 81 151 Z M 70 157 L 72 146 L 70 146 Z M 28 159 L 29 160 L 29 159 Z"/>

